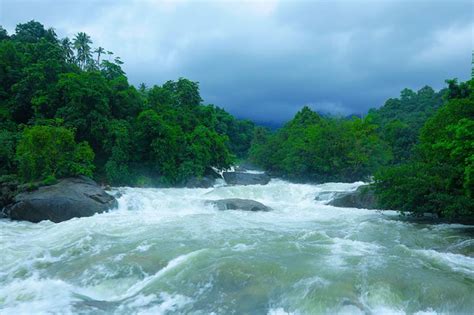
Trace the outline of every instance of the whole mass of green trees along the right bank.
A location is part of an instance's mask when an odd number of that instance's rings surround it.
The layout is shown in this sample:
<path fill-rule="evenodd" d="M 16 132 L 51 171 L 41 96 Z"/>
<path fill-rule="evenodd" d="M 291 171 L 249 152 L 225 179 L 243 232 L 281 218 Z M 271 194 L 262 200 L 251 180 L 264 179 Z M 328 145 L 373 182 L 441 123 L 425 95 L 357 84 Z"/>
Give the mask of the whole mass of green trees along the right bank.
<path fill-rule="evenodd" d="M 474 218 L 474 81 L 439 92 L 405 89 L 364 119 L 305 107 L 283 128 L 255 129 L 251 160 L 296 180 L 375 176 L 380 207 Z"/>

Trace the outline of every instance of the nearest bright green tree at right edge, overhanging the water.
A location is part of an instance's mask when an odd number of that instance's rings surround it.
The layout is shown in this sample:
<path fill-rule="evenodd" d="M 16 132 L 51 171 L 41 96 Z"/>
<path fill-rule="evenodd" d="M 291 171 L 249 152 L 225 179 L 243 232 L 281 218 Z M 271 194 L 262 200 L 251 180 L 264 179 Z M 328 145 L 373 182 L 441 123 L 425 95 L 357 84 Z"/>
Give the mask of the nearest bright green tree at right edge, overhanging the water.
<path fill-rule="evenodd" d="M 377 174 L 382 206 L 474 217 L 474 81 L 448 82 L 448 101 L 423 126 L 414 156 Z"/>

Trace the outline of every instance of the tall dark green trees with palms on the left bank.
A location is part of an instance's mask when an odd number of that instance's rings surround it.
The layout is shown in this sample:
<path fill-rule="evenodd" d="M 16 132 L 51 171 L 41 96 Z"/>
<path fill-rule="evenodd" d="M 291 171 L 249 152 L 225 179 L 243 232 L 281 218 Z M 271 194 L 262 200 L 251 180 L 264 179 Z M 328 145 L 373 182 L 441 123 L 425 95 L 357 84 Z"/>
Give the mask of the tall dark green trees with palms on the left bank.
<path fill-rule="evenodd" d="M 95 178 L 114 185 L 182 184 L 247 154 L 254 124 L 202 105 L 197 82 L 180 78 L 137 89 L 120 58 L 92 48 L 85 33 L 58 39 L 35 21 L 19 24 L 11 36 L 1 30 L 0 175 L 18 172 L 25 181 L 91 175 L 88 162 L 74 164 L 90 157 L 75 156 L 85 154 L 76 152 L 75 141 L 93 149 Z M 62 126 L 51 124 L 57 119 Z M 67 150 L 43 163 L 39 143 Z"/>

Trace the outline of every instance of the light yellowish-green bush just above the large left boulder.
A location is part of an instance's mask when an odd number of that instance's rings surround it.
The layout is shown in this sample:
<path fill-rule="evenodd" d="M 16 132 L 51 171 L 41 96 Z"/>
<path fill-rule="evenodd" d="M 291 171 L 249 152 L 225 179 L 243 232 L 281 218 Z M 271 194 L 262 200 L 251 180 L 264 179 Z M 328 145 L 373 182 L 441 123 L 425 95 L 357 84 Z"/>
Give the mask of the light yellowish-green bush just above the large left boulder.
<path fill-rule="evenodd" d="M 16 149 L 18 172 L 24 181 L 67 176 L 92 176 L 94 152 L 87 142 L 76 144 L 64 127 L 26 128 Z"/>

